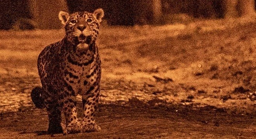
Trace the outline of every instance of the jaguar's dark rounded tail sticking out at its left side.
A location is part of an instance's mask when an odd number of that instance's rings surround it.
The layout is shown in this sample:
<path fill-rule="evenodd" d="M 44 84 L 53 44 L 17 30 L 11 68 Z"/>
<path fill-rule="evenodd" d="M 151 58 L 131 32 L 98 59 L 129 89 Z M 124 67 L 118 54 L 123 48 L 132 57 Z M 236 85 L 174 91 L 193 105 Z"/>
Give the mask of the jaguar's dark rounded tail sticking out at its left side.
<path fill-rule="evenodd" d="M 43 98 L 43 89 L 42 87 L 35 87 L 31 91 L 32 102 L 36 105 L 36 108 L 45 108 L 45 99 Z"/>

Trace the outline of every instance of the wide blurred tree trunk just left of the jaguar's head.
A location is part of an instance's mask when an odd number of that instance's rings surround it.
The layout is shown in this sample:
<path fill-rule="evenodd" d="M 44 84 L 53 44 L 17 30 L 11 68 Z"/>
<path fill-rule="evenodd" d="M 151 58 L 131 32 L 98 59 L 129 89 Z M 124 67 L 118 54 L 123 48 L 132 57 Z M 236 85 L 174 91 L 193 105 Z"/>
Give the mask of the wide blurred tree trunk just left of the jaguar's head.
<path fill-rule="evenodd" d="M 58 14 L 67 11 L 66 0 L 29 0 L 30 13 L 38 29 L 59 29 L 62 27 Z"/>

